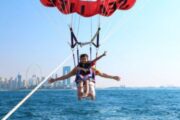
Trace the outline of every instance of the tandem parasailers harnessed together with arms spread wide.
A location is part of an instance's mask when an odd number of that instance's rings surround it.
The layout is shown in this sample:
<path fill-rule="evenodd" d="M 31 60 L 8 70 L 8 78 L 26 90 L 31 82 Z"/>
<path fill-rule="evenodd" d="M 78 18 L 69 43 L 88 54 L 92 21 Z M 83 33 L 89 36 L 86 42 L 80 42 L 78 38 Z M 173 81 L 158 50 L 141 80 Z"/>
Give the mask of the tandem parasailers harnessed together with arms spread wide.
<path fill-rule="evenodd" d="M 91 99 L 94 100 L 95 99 L 95 90 L 94 90 L 95 75 L 99 75 L 104 78 L 114 79 L 117 81 L 120 80 L 119 76 L 112 76 L 112 75 L 108 75 L 106 73 L 102 73 L 94 67 L 94 64 L 96 63 L 96 61 L 101 59 L 105 55 L 106 55 L 106 52 L 104 52 L 102 55 L 100 55 L 96 59 L 94 59 L 92 61 L 88 61 L 88 55 L 82 54 L 80 56 L 79 65 L 76 66 L 71 72 L 69 72 L 68 74 L 63 75 L 61 77 L 58 77 L 56 79 L 50 78 L 48 80 L 48 82 L 54 83 L 56 81 L 66 80 L 67 78 L 76 75 L 75 81 L 76 81 L 76 85 L 77 85 L 78 100 L 81 100 L 83 97 L 91 97 Z M 84 66 L 82 64 L 84 64 Z M 91 69 L 91 70 L 89 70 L 89 69 Z M 87 73 L 82 73 L 83 76 L 80 76 L 80 74 L 81 74 L 80 72 L 87 72 Z M 85 75 L 88 77 L 85 78 Z M 85 91 L 85 93 L 84 93 L 84 91 Z"/>

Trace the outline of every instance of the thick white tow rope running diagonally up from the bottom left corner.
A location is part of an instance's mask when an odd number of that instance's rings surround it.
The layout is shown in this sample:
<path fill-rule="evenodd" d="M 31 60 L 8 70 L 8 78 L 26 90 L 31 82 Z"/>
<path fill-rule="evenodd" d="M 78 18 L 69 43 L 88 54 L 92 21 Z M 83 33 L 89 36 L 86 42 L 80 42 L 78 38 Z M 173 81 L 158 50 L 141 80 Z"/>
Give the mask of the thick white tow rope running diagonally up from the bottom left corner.
<path fill-rule="evenodd" d="M 26 97 L 24 97 L 13 109 L 11 109 L 3 118 L 2 120 L 7 120 L 21 105 L 26 102 L 47 80 L 57 72 L 69 59 L 71 58 L 71 54 L 64 59 L 64 61 L 59 64 L 43 81 L 41 81 Z"/>

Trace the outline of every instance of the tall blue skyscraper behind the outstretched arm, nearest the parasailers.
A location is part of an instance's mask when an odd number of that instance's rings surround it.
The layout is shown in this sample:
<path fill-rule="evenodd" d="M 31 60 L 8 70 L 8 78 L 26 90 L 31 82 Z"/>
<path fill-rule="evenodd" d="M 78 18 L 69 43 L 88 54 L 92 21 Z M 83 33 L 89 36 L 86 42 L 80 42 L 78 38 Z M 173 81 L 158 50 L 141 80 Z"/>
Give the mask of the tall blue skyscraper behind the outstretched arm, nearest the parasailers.
<path fill-rule="evenodd" d="M 71 67 L 70 66 L 64 66 L 63 67 L 63 75 L 69 73 L 71 70 Z M 66 86 L 66 87 L 70 87 L 71 85 L 71 78 L 68 78 L 66 80 L 63 81 L 63 85 Z"/>

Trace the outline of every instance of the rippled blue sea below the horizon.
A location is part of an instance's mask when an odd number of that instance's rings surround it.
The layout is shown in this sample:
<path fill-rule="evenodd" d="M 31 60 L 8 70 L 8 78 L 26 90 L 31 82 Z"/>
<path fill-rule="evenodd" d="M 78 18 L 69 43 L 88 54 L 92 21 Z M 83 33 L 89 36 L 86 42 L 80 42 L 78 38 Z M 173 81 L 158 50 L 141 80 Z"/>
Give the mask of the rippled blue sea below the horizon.
<path fill-rule="evenodd" d="M 180 120 L 180 89 L 97 90 L 77 101 L 75 90 L 40 90 L 10 120 Z M 0 119 L 29 91 L 1 91 Z"/>

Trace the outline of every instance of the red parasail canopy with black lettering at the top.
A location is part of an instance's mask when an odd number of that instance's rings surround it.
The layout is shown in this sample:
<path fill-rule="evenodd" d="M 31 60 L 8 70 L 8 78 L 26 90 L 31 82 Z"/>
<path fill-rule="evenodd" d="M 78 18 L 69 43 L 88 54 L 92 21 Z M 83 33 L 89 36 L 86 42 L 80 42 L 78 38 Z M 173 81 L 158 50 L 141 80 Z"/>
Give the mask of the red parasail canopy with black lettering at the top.
<path fill-rule="evenodd" d="M 47 7 L 57 7 L 64 14 L 78 13 L 84 17 L 112 15 L 116 9 L 128 10 L 136 0 L 40 0 Z"/>

